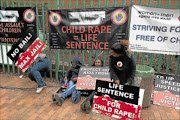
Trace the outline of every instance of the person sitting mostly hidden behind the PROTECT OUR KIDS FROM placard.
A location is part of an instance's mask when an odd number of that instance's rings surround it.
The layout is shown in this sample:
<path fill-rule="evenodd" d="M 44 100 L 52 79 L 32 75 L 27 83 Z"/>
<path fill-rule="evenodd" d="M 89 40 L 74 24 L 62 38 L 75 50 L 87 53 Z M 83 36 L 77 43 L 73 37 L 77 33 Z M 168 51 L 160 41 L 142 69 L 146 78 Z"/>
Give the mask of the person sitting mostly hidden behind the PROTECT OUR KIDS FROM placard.
<path fill-rule="evenodd" d="M 102 67 L 103 66 L 103 61 L 100 59 L 96 59 L 93 63 L 92 66 L 96 66 L 96 67 Z M 86 112 L 87 114 L 90 113 L 91 107 L 92 107 L 92 103 L 93 103 L 93 97 L 94 97 L 94 92 L 93 91 L 88 98 L 81 104 L 81 110 Z"/>

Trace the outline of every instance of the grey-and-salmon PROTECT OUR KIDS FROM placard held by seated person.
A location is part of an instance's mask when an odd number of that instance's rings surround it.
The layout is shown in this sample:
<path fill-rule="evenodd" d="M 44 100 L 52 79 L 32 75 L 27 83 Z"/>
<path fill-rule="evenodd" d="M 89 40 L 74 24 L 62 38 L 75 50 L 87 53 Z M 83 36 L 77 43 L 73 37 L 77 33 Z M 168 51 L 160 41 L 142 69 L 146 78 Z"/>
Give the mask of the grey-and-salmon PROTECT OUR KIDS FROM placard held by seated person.
<path fill-rule="evenodd" d="M 111 81 L 108 67 L 81 67 L 76 89 L 78 90 L 94 90 L 96 87 L 96 79 L 103 81 Z"/>

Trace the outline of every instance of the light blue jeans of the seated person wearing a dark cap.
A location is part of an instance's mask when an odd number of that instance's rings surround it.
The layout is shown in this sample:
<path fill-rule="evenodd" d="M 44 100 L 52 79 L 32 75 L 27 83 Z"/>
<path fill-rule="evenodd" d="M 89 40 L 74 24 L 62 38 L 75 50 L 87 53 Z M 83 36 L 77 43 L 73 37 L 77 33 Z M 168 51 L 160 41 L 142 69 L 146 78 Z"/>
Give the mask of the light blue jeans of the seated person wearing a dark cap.
<path fill-rule="evenodd" d="M 67 86 L 66 90 L 63 93 L 61 93 L 62 102 L 64 102 L 64 100 L 66 99 L 66 97 L 68 95 L 72 94 L 72 92 L 75 90 L 75 88 L 76 88 L 76 84 L 72 80 L 70 80 L 68 82 L 68 86 Z"/>

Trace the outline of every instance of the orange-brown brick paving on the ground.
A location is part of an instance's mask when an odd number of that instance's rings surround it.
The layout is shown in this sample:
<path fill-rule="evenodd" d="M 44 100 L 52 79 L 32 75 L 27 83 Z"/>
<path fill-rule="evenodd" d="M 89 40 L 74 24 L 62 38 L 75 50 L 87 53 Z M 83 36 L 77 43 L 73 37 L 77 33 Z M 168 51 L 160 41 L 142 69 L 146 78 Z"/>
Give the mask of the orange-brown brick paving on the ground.
<path fill-rule="evenodd" d="M 1 120 L 111 120 L 104 115 L 85 114 L 78 104 L 68 98 L 63 105 L 52 103 L 51 95 L 59 88 L 58 83 L 46 79 L 48 87 L 36 94 L 36 83 L 28 77 L 0 73 L 0 119 Z M 113 120 L 113 119 L 112 119 Z M 180 110 L 151 105 L 142 110 L 141 120 L 180 120 Z"/>

